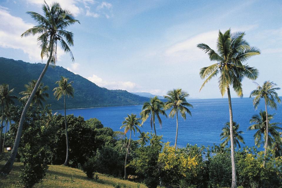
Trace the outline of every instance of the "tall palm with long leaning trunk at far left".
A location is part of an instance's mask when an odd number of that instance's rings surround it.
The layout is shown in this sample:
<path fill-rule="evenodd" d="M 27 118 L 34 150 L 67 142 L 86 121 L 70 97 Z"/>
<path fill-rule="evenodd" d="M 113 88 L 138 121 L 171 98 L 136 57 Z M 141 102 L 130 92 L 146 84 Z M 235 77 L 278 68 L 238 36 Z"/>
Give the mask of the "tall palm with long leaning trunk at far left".
<path fill-rule="evenodd" d="M 21 36 L 27 37 L 29 35 L 39 34 L 37 41 L 40 44 L 41 48 L 41 58 L 43 59 L 43 57 L 48 57 L 48 60 L 46 62 L 46 66 L 39 76 L 39 79 L 35 84 L 34 89 L 31 92 L 31 95 L 29 96 L 29 99 L 26 102 L 26 105 L 24 106 L 24 110 L 19 121 L 13 150 L 8 161 L 1 169 L 3 174 L 8 174 L 13 167 L 21 140 L 24 118 L 26 116 L 29 105 L 31 104 L 32 99 L 37 91 L 37 88 L 39 87 L 39 84 L 41 83 L 49 64 L 56 64 L 58 40 L 60 41 L 63 51 L 69 53 L 71 55 L 72 61 L 74 61 L 73 54 L 69 48 L 69 45 L 74 45 L 74 34 L 72 32 L 66 31 L 66 29 L 76 22 L 79 23 L 79 21 L 74 19 L 73 14 L 69 10 L 62 9 L 59 3 L 53 3 L 51 4 L 51 6 L 49 6 L 48 4 L 46 4 L 46 2 L 44 2 L 44 4 L 42 5 L 42 10 L 44 13 L 43 16 L 36 12 L 27 12 L 37 22 L 37 25 L 26 30 Z"/>

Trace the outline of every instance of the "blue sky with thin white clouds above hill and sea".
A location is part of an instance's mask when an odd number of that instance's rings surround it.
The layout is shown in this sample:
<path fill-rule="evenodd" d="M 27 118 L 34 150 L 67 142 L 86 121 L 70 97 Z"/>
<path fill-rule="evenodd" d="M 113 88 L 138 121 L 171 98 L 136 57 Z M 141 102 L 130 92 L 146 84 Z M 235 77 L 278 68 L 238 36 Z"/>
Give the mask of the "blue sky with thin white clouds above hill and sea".
<path fill-rule="evenodd" d="M 58 49 L 56 65 L 98 86 L 157 95 L 183 88 L 191 97 L 221 98 L 216 78 L 199 92 L 203 82 L 199 69 L 212 63 L 196 45 L 204 42 L 214 48 L 218 30 L 228 28 L 245 31 L 246 40 L 261 49 L 261 55 L 248 61 L 259 69 L 256 82 L 271 80 L 282 86 L 281 1 L 58 2 L 81 24 L 68 29 L 74 33 L 75 61 Z M 1 57 L 41 62 L 36 37 L 20 35 L 35 25 L 26 11 L 41 13 L 42 3 L 0 0 Z M 244 96 L 255 87 L 245 79 Z M 236 97 L 234 92 L 231 95 Z"/>

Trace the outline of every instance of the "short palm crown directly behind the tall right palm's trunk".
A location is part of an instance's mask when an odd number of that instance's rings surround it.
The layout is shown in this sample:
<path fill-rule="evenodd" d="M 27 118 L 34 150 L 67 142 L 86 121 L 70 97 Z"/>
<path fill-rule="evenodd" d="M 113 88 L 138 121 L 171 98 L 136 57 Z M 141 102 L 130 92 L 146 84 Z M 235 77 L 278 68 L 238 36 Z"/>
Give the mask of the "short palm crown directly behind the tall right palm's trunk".
<path fill-rule="evenodd" d="M 240 143 L 245 144 L 243 137 L 241 136 L 241 134 L 244 134 L 243 131 L 238 131 L 240 127 L 240 124 L 236 124 L 236 122 L 233 122 L 233 136 L 234 136 L 234 145 L 235 148 L 237 147 L 237 145 L 239 146 L 239 148 L 241 148 Z M 221 143 L 222 146 L 227 146 L 228 142 L 230 141 L 230 122 L 226 122 L 225 126 L 222 128 L 222 133 L 220 134 L 221 139 L 220 140 L 224 140 L 223 143 Z"/>

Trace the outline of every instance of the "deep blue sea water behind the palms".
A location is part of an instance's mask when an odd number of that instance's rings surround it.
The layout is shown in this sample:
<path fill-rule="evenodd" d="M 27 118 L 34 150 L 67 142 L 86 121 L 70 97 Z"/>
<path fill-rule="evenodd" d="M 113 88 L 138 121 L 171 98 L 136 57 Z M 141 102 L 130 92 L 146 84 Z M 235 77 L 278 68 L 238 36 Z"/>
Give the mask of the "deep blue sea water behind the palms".
<path fill-rule="evenodd" d="M 192 117 L 187 116 L 184 121 L 182 117 L 178 117 L 178 141 L 179 147 L 185 147 L 187 143 L 198 144 L 204 146 L 212 146 L 213 143 L 219 144 L 220 133 L 224 124 L 229 121 L 228 99 L 194 99 L 188 100 L 194 107 L 190 109 Z M 263 102 L 263 101 L 262 101 Z M 99 107 L 85 109 L 70 109 L 66 110 L 67 114 L 74 116 L 83 116 L 84 119 L 94 118 L 99 119 L 104 127 L 111 127 L 114 131 L 121 131 L 121 122 L 127 114 L 140 114 L 142 105 L 135 106 L 118 106 L 118 107 Z M 264 110 L 264 104 L 261 103 L 258 110 L 254 110 L 252 99 L 250 98 L 232 98 L 233 121 L 240 124 L 240 129 L 244 131 L 243 137 L 247 146 L 254 146 L 253 134 L 255 131 L 247 131 L 250 126 L 250 119 L 253 114 L 258 114 L 259 110 Z M 282 122 L 281 105 L 277 110 L 268 110 L 269 113 L 276 113 L 273 122 Z M 59 113 L 64 113 L 64 110 L 56 110 Z M 56 112 L 54 111 L 54 112 Z M 163 135 L 163 141 L 170 141 L 174 144 L 176 134 L 176 117 L 162 117 L 162 128 L 159 127 L 156 121 L 157 135 Z M 141 131 L 150 132 L 150 119 L 148 119 Z M 132 136 L 133 139 L 138 139 L 139 133 Z"/>

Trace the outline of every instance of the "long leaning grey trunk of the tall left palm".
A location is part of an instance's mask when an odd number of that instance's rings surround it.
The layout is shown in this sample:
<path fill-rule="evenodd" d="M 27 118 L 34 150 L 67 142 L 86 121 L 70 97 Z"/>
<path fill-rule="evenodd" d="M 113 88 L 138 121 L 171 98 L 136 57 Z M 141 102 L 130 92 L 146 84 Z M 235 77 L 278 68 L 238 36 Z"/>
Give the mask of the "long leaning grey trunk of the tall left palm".
<path fill-rule="evenodd" d="M 50 64 L 50 61 L 51 61 L 51 58 L 53 56 L 53 36 L 50 37 L 50 54 L 49 54 L 49 58 L 47 60 L 47 63 L 42 71 L 42 73 L 40 74 L 35 86 L 34 86 L 34 89 L 32 90 L 31 92 L 31 95 L 29 96 L 29 99 L 27 100 L 26 102 L 26 105 L 24 106 L 24 110 L 23 112 L 21 113 L 21 119 L 20 119 L 20 122 L 19 122 L 19 127 L 18 127 L 18 131 L 17 131 L 17 134 L 16 134 L 16 139 L 15 139 L 15 142 L 14 142 L 14 146 L 13 146 L 13 149 L 12 149 L 12 152 L 11 152 L 11 155 L 9 157 L 9 159 L 7 160 L 6 164 L 4 165 L 4 167 L 1 169 L 1 172 L 3 174 L 9 174 L 9 172 L 12 170 L 13 168 L 13 164 L 14 164 L 14 161 L 16 159 L 16 155 L 18 153 L 18 148 L 19 148 L 19 144 L 20 144 L 20 141 L 21 141 L 21 132 L 23 130 L 23 125 L 24 125 L 24 118 L 26 116 L 26 113 L 27 113 L 27 110 L 32 102 L 32 99 L 34 98 L 34 95 L 39 87 L 39 84 L 41 83 L 43 77 L 44 77 L 44 74 L 46 73 L 47 69 L 48 69 L 48 66 Z"/>

